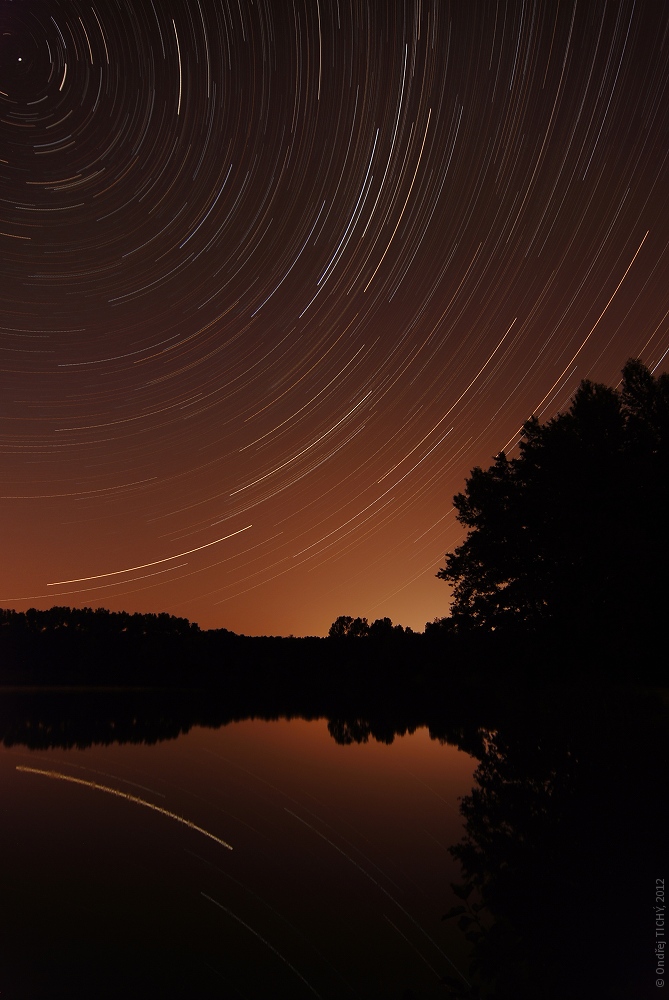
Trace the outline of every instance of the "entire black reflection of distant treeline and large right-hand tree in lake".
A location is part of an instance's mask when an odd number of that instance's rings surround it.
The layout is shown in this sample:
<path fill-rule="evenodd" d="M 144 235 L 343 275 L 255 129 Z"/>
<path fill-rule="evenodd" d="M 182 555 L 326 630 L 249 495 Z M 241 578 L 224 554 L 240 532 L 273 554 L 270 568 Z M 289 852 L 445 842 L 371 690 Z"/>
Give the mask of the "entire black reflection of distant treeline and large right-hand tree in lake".
<path fill-rule="evenodd" d="M 5 694 L 0 738 L 35 748 L 156 742 L 193 725 L 327 719 L 340 744 L 391 743 L 427 726 L 478 761 L 461 803 L 454 887 L 472 948 L 462 993 L 486 1000 L 616 1000 L 654 982 L 653 888 L 661 877 L 667 706 L 594 684 L 485 692 L 446 684 L 383 697 L 304 684 L 211 691 Z M 658 875 L 658 873 L 660 873 Z M 449 890 L 444 886 L 445 906 Z M 460 992 L 458 992 L 460 991 Z"/>

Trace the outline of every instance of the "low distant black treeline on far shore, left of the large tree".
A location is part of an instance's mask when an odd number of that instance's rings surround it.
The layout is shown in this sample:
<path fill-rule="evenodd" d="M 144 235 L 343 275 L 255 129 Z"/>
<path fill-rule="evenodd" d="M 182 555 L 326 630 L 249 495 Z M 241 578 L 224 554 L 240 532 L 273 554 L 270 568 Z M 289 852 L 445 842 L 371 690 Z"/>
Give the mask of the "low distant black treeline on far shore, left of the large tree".
<path fill-rule="evenodd" d="M 390 619 L 380 629 L 370 627 L 369 635 L 370 642 L 342 647 L 317 636 L 203 630 L 168 614 L 0 609 L 0 686 L 202 687 L 252 677 L 256 686 L 274 687 L 288 677 L 313 681 L 330 671 L 340 679 L 377 671 L 404 674 L 424 660 L 421 636 L 398 629 Z M 398 642 L 400 637 L 404 641 Z"/>

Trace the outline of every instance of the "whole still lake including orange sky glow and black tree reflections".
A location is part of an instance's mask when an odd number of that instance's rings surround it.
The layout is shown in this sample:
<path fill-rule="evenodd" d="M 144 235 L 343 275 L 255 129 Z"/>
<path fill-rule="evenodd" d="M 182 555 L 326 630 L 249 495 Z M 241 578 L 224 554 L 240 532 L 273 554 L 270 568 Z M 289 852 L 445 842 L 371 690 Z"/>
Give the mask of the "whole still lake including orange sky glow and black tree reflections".
<path fill-rule="evenodd" d="M 2 696 L 2 1000 L 656 995 L 661 693 L 214 701 Z"/>

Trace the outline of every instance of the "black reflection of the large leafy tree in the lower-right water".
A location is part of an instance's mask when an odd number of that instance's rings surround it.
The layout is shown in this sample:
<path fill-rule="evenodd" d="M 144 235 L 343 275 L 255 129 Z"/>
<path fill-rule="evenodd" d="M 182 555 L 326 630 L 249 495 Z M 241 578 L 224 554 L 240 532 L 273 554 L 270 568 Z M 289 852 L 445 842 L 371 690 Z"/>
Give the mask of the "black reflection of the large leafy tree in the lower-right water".
<path fill-rule="evenodd" d="M 476 986 L 453 996 L 628 1000 L 654 981 L 666 711 L 629 690 L 577 694 L 469 748 L 476 784 L 451 848 L 462 902 L 446 916 L 472 943 Z"/>

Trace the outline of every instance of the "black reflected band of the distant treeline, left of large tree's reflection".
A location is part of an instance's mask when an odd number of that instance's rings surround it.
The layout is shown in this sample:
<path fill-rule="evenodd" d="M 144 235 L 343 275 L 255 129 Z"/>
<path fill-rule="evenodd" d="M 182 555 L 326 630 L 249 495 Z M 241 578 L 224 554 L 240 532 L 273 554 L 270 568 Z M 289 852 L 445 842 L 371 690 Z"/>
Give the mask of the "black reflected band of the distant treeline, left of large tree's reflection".
<path fill-rule="evenodd" d="M 86 747 L 155 743 L 193 726 L 219 727 L 245 719 L 328 720 L 341 744 L 396 736 L 428 726 L 449 742 L 461 736 L 459 720 L 472 709 L 472 690 L 434 674 L 427 688 L 402 673 L 358 671 L 317 675 L 313 662 L 277 669 L 273 661 L 229 670 L 215 687 L 62 687 L 5 689 L 0 698 L 0 740 L 6 746 Z M 484 709 L 481 695 L 475 709 Z"/>

